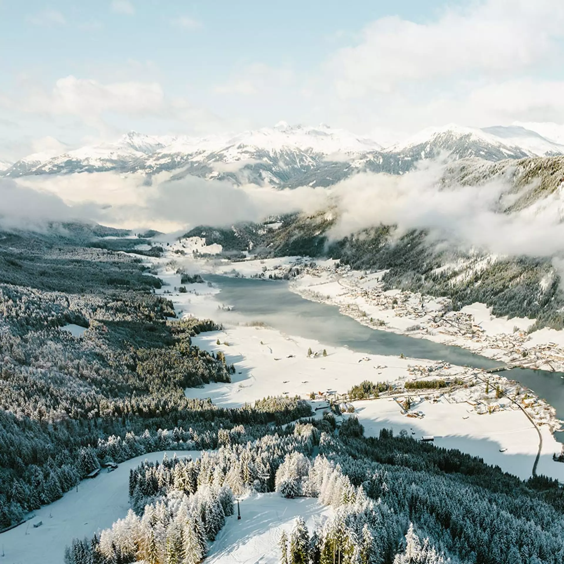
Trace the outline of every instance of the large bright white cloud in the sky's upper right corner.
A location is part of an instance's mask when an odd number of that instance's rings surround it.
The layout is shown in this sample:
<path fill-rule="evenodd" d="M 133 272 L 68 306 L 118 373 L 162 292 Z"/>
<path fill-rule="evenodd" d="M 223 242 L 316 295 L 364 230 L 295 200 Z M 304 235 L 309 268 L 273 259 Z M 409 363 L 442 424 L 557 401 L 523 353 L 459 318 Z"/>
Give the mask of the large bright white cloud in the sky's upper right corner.
<path fill-rule="evenodd" d="M 357 45 L 338 51 L 328 70 L 345 98 L 389 92 L 405 81 L 506 76 L 550 56 L 562 23 L 559 0 L 474 2 L 425 24 L 385 17 L 367 25 Z"/>

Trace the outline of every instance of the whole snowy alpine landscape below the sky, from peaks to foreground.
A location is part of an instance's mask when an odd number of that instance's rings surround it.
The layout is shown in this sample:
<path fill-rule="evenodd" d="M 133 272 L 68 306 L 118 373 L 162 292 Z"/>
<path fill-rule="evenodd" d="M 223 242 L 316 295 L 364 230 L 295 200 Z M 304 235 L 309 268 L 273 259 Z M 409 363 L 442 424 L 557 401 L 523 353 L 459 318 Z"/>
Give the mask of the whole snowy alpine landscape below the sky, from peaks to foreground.
<path fill-rule="evenodd" d="M 561 564 L 564 136 L 535 127 L 0 162 L 0 562 Z"/>

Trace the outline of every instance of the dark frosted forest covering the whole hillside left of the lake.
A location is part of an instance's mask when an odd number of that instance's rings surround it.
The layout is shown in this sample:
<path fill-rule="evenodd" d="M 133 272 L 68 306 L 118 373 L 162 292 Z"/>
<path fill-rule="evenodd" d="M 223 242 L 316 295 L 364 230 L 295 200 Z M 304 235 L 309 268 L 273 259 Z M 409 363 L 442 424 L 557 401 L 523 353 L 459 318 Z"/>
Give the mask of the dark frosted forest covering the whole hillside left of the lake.
<path fill-rule="evenodd" d="M 293 399 L 242 409 L 187 399 L 185 387 L 230 381 L 222 355 L 191 344 L 217 325 L 173 319 L 152 292 L 160 280 L 125 254 L 83 246 L 81 233 L 0 239 L 0 530 L 105 457 L 214 448 L 218 426 L 257 425 L 258 436 L 310 413 Z"/>

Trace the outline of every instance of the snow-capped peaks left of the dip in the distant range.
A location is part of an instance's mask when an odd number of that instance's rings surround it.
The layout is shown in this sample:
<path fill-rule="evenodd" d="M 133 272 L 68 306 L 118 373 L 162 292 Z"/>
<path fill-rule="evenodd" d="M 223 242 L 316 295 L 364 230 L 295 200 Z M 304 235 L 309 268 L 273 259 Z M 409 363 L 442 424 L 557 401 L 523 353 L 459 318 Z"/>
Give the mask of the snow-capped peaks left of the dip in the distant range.
<path fill-rule="evenodd" d="M 372 139 L 345 130 L 325 125 L 290 127 L 285 122 L 235 136 L 162 138 L 131 132 L 115 143 L 45 155 L 45 158 L 26 157 L 7 169 L 5 175 L 104 170 L 154 174 L 178 169 L 180 176 L 192 174 L 236 183 L 280 186 L 324 160 L 347 160 L 380 148 Z"/>

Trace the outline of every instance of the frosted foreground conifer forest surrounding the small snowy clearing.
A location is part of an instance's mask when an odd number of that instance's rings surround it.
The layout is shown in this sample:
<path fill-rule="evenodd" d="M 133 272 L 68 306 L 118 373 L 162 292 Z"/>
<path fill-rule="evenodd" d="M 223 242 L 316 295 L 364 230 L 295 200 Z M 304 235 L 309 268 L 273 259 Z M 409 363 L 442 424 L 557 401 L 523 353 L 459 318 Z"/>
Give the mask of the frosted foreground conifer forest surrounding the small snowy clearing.
<path fill-rule="evenodd" d="M 151 564 L 191 561 L 193 553 L 186 549 L 167 550 L 174 510 L 195 504 L 201 492 L 222 488 L 277 491 L 288 499 L 316 497 L 332 507 L 311 530 L 298 518 L 289 536 L 283 536 L 281 561 L 288 564 L 562 562 L 562 488 L 555 481 L 523 483 L 477 457 L 394 437 L 390 431 L 366 439 L 354 417 L 338 436 L 325 421 L 291 425 L 247 443 L 240 440 L 244 432 L 224 433 L 219 450 L 202 453 L 200 459 L 145 462 L 133 470 L 130 495 L 140 517 L 130 514 L 131 525 L 120 521 L 100 539 L 80 543 L 81 550 L 90 550 L 86 559 L 75 557 L 70 548 L 68 562 L 134 562 L 153 536 L 157 549 L 148 559 Z M 319 454 L 313 457 L 316 447 Z M 167 515 L 164 521 L 155 519 L 157 513 Z M 202 523 L 205 519 L 200 515 Z M 127 527 L 139 521 L 155 523 L 154 532 L 147 527 L 145 536 L 128 534 Z M 167 523 L 164 530 L 157 529 L 162 522 Z M 180 539 L 182 534 L 175 532 Z M 122 543 L 130 547 L 125 559 Z M 102 545 L 113 552 L 102 554 Z"/>

